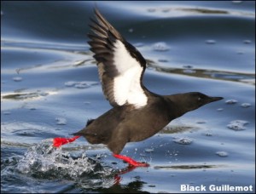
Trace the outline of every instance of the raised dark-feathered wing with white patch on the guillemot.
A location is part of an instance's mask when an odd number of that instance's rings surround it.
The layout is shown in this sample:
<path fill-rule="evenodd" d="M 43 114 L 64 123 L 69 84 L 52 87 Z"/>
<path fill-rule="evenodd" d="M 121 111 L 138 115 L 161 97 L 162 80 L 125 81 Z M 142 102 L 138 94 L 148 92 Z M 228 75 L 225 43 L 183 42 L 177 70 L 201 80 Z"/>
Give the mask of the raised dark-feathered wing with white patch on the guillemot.
<path fill-rule="evenodd" d="M 142 83 L 146 60 L 119 31 L 95 9 L 96 21 L 90 25 L 90 50 L 95 53 L 102 90 L 112 106 L 147 105 Z"/>

